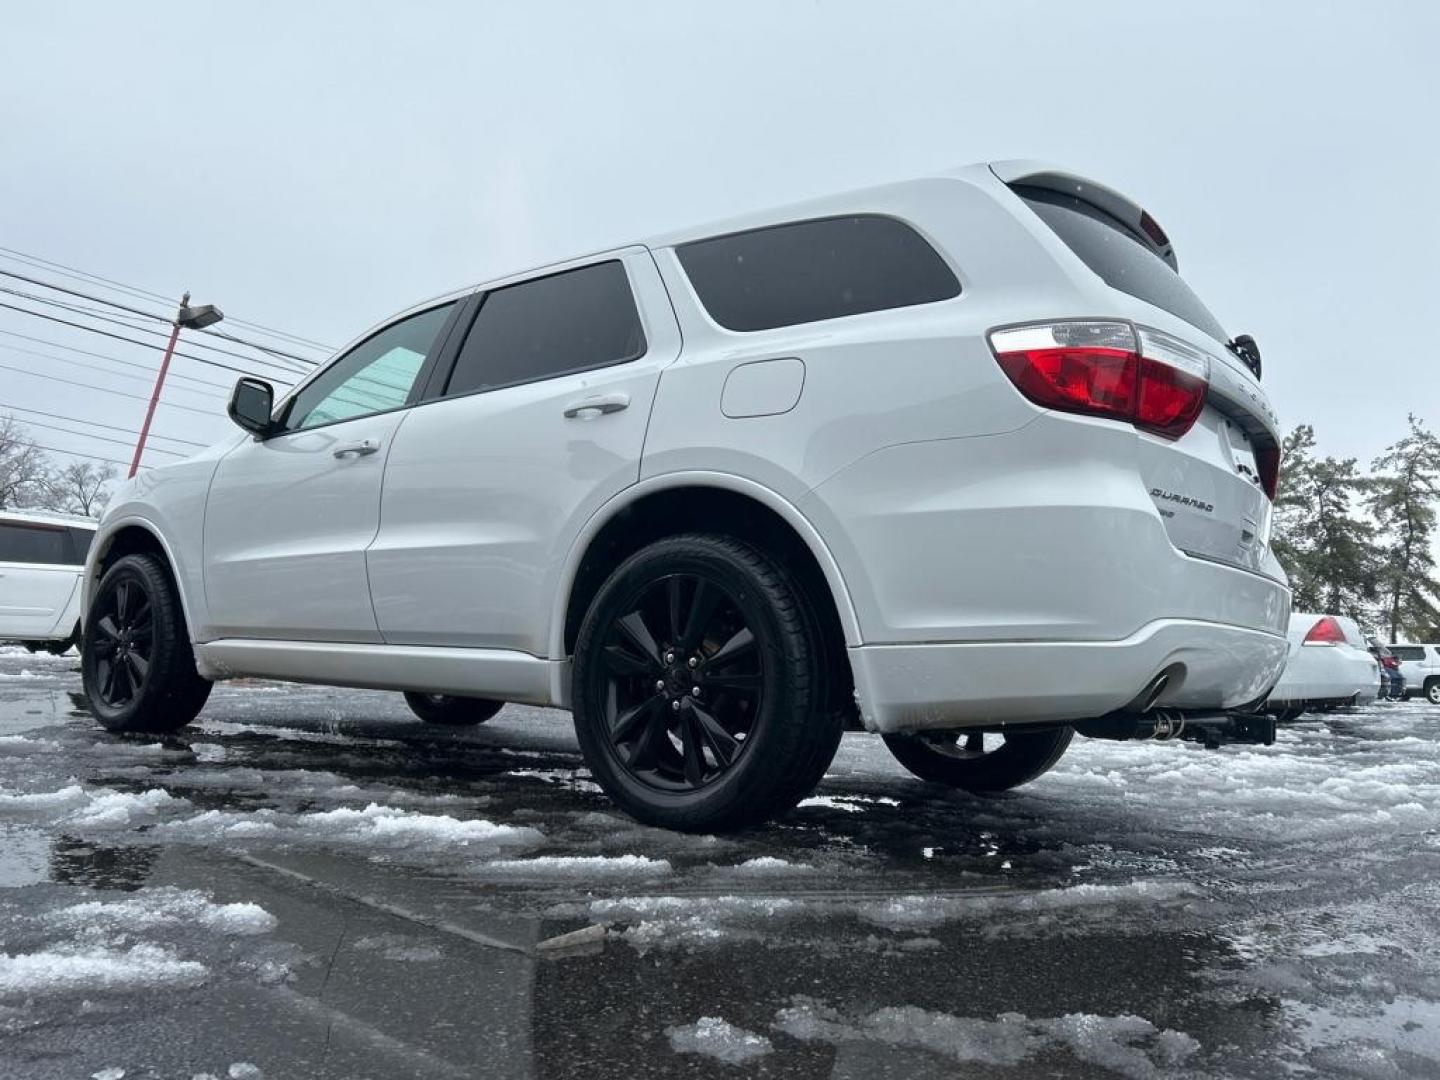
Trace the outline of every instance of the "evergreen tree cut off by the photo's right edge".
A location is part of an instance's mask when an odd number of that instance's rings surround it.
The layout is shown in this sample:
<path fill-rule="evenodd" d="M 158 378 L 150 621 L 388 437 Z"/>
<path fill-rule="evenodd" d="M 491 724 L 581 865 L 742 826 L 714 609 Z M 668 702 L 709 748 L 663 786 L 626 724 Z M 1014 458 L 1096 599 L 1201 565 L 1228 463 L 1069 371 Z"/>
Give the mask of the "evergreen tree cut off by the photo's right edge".
<path fill-rule="evenodd" d="M 1369 513 L 1382 536 L 1380 586 L 1390 639 L 1433 639 L 1440 629 L 1436 580 L 1436 503 L 1440 501 L 1440 438 L 1411 413 L 1410 433 L 1375 458 Z"/>

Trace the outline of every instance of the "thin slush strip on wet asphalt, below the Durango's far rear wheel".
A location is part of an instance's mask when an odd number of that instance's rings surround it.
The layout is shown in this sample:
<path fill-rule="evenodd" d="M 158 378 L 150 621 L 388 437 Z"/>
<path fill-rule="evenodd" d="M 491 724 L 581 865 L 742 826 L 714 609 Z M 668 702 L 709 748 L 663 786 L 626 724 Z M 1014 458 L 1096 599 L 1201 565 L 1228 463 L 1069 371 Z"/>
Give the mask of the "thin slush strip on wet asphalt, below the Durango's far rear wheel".
<path fill-rule="evenodd" d="M 865 922 L 891 930 L 930 929 L 955 919 L 992 914 L 1048 916 L 1083 910 L 1087 914 L 1110 914 L 1122 906 L 1145 904 L 1149 910 L 1162 904 L 1182 904 L 1201 896 L 1189 884 L 1178 881 L 1130 881 L 1123 886 L 1070 886 L 1040 893 L 984 893 L 979 896 L 896 896 L 855 909 Z M 994 927 L 991 927 L 994 929 Z"/>

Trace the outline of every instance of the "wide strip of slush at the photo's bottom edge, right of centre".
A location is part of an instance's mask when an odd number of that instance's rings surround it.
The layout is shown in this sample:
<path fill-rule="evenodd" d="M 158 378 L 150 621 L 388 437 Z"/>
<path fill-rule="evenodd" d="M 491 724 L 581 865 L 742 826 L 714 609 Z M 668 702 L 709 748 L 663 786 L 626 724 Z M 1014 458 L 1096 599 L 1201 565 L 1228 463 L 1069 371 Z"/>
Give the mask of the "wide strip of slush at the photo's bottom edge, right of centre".
<path fill-rule="evenodd" d="M 1080 1061 L 1132 1080 L 1168 1076 L 1200 1050 L 1200 1043 L 1189 1035 L 1161 1031 L 1148 1020 L 1130 1015 L 1073 1012 L 1056 1020 L 1030 1020 L 1018 1012 L 1002 1012 L 995 1020 L 978 1020 L 903 1005 L 847 1018 L 804 996 L 793 998 L 789 1008 L 775 1015 L 775 1027 L 804 1041 L 884 1043 L 991 1066 L 1017 1066 L 1060 1044 Z"/>

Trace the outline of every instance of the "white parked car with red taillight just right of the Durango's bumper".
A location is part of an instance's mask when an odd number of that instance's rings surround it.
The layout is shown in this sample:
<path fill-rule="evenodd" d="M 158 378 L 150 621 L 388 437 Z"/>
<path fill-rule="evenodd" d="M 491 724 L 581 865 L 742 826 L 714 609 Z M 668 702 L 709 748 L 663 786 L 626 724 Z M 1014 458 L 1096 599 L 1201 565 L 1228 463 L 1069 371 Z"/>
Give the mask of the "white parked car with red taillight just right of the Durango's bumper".
<path fill-rule="evenodd" d="M 1380 697 L 1380 665 L 1355 619 L 1296 612 L 1290 654 L 1266 708 L 1282 720 L 1302 713 L 1365 706 Z"/>

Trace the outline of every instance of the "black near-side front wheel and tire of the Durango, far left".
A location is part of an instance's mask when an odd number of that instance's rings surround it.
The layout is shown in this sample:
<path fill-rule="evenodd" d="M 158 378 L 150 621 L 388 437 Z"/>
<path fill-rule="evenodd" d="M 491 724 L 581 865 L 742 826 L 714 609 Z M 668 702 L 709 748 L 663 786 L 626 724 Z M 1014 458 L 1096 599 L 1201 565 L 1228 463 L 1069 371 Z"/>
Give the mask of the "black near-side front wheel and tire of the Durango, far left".
<path fill-rule="evenodd" d="M 153 554 L 127 554 L 99 582 L 85 615 L 81 680 L 111 732 L 177 732 L 210 696 L 194 667 L 180 595 Z"/>

